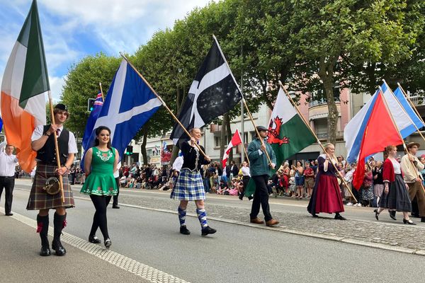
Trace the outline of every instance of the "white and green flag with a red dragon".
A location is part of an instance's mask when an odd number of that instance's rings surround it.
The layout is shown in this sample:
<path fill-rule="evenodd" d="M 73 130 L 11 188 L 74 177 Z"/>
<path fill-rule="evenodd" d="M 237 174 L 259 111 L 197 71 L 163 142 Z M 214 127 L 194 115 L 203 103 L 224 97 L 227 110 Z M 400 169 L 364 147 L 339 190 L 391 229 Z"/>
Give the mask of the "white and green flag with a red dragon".
<path fill-rule="evenodd" d="M 276 154 L 276 169 L 285 159 L 316 142 L 316 138 L 302 121 L 302 117 L 298 115 L 282 88 L 279 89 L 271 113 L 267 141 Z"/>

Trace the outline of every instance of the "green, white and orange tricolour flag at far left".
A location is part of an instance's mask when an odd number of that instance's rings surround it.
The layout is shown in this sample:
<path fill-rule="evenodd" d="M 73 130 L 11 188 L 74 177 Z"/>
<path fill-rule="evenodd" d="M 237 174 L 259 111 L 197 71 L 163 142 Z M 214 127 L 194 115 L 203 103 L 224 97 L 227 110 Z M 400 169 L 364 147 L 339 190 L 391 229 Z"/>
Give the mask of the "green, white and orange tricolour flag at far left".
<path fill-rule="evenodd" d="M 1 83 L 1 118 L 8 144 L 16 146 L 23 170 L 35 166 L 31 135 L 45 125 L 45 93 L 50 91 L 37 2 L 34 0 L 6 64 Z"/>

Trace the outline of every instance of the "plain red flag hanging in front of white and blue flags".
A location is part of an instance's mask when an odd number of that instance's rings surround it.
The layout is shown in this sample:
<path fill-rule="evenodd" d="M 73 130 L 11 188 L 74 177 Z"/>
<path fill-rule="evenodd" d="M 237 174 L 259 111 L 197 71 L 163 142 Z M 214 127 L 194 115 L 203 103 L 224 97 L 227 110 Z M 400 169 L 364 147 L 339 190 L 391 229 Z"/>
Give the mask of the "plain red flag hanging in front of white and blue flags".
<path fill-rule="evenodd" d="M 361 140 L 360 154 L 358 156 L 357 173 L 354 174 L 353 178 L 353 187 L 356 190 L 359 190 L 363 184 L 365 158 L 383 151 L 387 145 L 403 143 L 394 122 L 392 122 L 391 113 L 387 110 L 384 99 L 383 93 L 378 91 L 370 116 L 366 122 L 365 132 Z M 383 127 L 384 125 L 385 127 Z"/>

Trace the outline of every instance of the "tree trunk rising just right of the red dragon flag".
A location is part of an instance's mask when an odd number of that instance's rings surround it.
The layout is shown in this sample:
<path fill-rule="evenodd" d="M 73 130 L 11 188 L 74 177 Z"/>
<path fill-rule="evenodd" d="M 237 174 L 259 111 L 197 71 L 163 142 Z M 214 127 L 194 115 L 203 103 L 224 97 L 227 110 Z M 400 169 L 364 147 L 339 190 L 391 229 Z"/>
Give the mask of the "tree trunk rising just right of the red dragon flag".
<path fill-rule="evenodd" d="M 328 105 L 328 129 L 327 142 L 336 143 L 336 125 L 338 123 L 338 108 L 336 108 L 334 98 L 334 65 L 339 57 L 334 56 L 328 59 L 322 57 L 319 63 L 318 75 L 322 79 L 324 92 L 327 98 Z"/>

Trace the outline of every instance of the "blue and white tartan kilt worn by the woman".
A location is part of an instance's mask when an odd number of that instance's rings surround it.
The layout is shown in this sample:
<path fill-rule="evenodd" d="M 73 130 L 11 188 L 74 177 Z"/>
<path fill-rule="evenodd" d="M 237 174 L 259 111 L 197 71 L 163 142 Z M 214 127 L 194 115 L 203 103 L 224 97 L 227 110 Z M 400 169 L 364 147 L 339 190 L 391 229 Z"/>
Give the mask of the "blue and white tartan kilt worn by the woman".
<path fill-rule="evenodd" d="M 205 189 L 199 171 L 181 169 L 170 197 L 175 200 L 205 200 Z"/>

